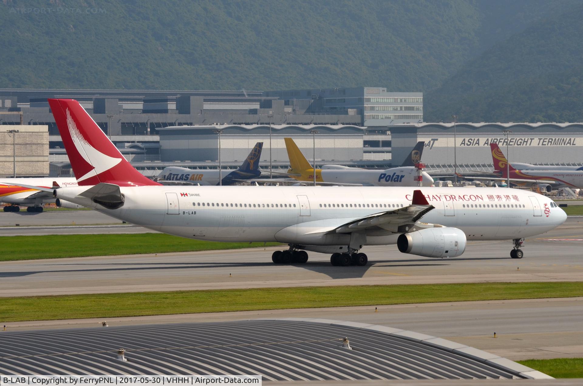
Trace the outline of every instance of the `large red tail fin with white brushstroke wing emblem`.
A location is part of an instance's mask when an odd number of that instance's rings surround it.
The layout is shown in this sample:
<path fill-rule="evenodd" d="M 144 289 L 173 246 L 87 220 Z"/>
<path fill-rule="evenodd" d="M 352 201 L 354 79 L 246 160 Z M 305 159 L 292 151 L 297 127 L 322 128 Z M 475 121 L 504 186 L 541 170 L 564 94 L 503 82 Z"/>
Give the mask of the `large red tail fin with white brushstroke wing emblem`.
<path fill-rule="evenodd" d="M 134 169 L 87 111 L 72 99 L 49 99 L 79 185 L 159 185 Z"/>

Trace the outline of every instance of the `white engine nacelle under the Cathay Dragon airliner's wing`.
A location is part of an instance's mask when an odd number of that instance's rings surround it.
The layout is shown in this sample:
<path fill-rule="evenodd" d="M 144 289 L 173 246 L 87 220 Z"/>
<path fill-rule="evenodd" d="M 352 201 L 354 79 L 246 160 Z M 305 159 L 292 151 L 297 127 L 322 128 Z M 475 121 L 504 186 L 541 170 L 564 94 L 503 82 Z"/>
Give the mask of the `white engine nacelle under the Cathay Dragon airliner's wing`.
<path fill-rule="evenodd" d="M 466 235 L 452 227 L 426 228 L 403 233 L 397 239 L 403 253 L 424 257 L 457 257 L 466 250 Z"/>

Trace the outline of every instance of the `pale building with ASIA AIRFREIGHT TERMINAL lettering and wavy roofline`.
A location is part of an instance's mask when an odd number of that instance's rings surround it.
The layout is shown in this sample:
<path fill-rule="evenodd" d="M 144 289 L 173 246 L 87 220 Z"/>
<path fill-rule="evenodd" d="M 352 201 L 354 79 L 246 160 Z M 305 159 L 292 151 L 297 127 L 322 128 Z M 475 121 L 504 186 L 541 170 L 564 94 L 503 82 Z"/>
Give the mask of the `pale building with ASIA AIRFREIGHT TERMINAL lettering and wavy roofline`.
<path fill-rule="evenodd" d="M 490 143 L 498 143 L 510 162 L 583 164 L 582 123 L 404 124 L 391 127 L 391 137 L 395 159 L 404 157 L 417 141 L 425 141 L 423 163 L 444 173 L 453 173 L 455 160 L 458 171 L 491 170 Z"/>

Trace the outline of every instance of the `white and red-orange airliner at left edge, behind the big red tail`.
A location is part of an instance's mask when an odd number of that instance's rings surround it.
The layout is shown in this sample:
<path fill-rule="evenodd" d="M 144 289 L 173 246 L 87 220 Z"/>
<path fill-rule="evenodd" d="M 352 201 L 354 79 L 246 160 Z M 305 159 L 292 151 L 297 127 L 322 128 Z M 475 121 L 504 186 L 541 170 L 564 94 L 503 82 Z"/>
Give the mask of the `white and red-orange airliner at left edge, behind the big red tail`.
<path fill-rule="evenodd" d="M 34 188 L 23 188 L 21 184 L 44 188 L 76 187 L 77 180 L 73 177 L 3 178 L 0 183 L 0 202 L 11 204 L 4 206 L 4 212 L 19 212 L 20 206 L 27 206 L 27 212 L 42 212 L 43 203 L 55 202 L 52 194 Z M 64 200 L 57 200 L 57 206 L 82 208 Z"/>

